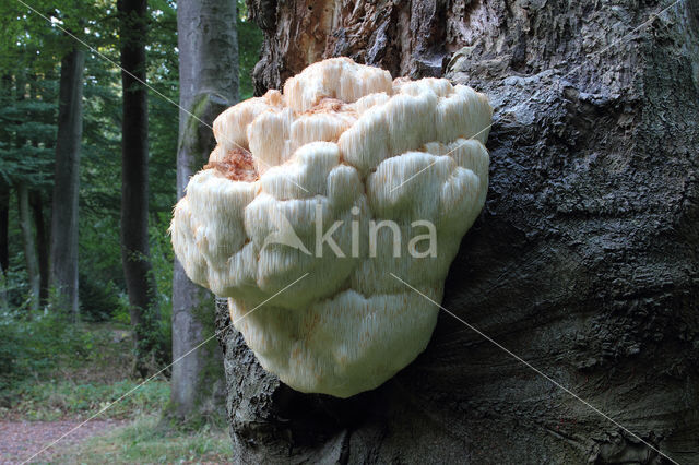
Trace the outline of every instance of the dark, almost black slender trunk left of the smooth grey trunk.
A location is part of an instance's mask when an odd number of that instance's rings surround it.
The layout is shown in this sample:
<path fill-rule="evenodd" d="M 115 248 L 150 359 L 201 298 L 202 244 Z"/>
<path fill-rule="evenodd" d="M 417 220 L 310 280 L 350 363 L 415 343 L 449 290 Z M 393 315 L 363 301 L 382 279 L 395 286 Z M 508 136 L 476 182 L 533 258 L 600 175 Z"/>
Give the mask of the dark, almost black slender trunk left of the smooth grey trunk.
<path fill-rule="evenodd" d="M 159 319 L 149 247 L 149 127 L 145 82 L 146 0 L 119 0 L 121 33 L 121 263 L 137 350 L 135 371 L 149 372 Z M 140 82 L 139 82 L 140 80 Z M 151 367 L 153 368 L 153 367 Z"/>

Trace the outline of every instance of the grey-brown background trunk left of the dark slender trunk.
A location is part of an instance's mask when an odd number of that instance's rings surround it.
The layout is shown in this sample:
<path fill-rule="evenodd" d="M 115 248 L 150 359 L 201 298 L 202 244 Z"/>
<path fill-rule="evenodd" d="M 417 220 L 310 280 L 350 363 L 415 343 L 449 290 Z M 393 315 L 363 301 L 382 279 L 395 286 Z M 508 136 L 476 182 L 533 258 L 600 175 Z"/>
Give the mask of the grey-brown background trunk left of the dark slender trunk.
<path fill-rule="evenodd" d="M 57 305 L 78 319 L 78 194 L 83 133 L 85 55 L 73 48 L 61 60 L 51 208 L 51 286 Z"/>

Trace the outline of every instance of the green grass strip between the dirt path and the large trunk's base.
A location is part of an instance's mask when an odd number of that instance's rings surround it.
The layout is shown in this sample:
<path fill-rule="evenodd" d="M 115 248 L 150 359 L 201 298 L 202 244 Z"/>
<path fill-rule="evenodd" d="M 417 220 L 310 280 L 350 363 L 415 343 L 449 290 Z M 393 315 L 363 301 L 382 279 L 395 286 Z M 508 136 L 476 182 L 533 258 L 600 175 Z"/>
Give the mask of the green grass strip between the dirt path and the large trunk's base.
<path fill-rule="evenodd" d="M 173 430 L 163 427 L 158 416 L 151 415 L 61 450 L 51 463 L 227 463 L 232 454 L 230 438 L 223 430 Z"/>

